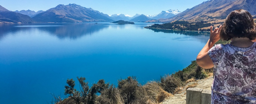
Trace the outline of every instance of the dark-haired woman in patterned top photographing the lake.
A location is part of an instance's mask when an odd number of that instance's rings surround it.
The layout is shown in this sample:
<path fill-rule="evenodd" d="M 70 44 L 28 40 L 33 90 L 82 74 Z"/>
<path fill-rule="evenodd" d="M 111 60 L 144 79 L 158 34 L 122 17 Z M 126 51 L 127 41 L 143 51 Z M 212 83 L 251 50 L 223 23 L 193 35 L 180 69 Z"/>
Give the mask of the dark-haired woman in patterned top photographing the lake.
<path fill-rule="evenodd" d="M 223 26 L 212 30 L 210 39 L 199 52 L 200 67 L 214 69 L 212 104 L 256 103 L 255 24 L 245 10 L 232 11 Z M 219 39 L 230 44 L 215 45 Z"/>

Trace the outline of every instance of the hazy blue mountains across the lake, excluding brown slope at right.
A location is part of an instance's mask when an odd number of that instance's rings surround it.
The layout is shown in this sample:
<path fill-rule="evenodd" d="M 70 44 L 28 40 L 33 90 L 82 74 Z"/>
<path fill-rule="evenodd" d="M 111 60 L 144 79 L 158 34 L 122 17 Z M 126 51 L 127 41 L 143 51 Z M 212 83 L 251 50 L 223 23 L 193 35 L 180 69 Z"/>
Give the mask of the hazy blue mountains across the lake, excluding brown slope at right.
<path fill-rule="evenodd" d="M 128 17 L 124 14 L 107 15 L 92 8 L 81 7 L 76 4 L 58 5 L 47 11 L 8 11 L 4 7 L 0 7 L 2 15 L 0 14 L 1 23 L 27 23 L 27 22 L 113 22 L 118 20 L 145 22 L 148 20 L 169 18 L 175 14 L 180 13 L 178 10 L 168 10 L 161 12 L 158 15 L 140 15 L 136 14 L 133 17 Z M 3 12 L 4 11 L 4 12 Z M 8 13 L 7 13 L 8 12 Z M 4 15 L 4 16 L 3 16 Z M 29 17 L 31 18 L 29 18 Z"/>

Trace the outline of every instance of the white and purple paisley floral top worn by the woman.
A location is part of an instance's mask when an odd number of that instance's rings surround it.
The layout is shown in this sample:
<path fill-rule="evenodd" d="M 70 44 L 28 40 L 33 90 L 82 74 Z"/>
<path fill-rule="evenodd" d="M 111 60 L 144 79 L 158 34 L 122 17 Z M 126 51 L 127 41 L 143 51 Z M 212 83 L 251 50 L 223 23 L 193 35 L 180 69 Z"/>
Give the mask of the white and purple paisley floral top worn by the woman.
<path fill-rule="evenodd" d="M 218 44 L 208 54 L 214 63 L 212 104 L 256 104 L 256 43 L 248 48 Z"/>

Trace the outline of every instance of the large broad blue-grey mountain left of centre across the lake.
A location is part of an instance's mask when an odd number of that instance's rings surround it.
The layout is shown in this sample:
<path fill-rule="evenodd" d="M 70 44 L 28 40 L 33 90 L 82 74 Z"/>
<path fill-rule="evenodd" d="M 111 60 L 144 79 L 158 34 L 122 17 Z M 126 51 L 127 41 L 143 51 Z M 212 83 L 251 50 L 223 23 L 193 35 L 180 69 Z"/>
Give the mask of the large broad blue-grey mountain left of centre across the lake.
<path fill-rule="evenodd" d="M 58 5 L 34 16 L 37 22 L 113 22 L 108 15 L 76 4 Z"/>

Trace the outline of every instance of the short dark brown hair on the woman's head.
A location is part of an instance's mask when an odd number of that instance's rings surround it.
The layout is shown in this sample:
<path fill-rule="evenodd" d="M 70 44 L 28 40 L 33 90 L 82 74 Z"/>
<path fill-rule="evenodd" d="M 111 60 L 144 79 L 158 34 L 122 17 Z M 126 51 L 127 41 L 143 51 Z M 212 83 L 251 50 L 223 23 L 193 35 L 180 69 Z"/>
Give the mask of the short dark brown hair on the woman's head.
<path fill-rule="evenodd" d="M 243 9 L 232 11 L 226 18 L 220 31 L 221 40 L 228 41 L 234 37 L 256 39 L 255 23 L 252 15 Z"/>

